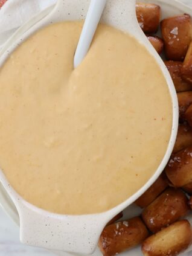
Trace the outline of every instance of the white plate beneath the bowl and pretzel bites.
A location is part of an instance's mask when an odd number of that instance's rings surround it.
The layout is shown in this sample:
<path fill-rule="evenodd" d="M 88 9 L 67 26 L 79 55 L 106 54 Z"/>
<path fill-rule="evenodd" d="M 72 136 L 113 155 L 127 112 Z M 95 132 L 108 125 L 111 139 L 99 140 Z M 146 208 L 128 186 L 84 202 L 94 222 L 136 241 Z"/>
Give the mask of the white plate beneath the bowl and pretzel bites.
<path fill-rule="evenodd" d="M 174 16 L 176 14 L 183 14 L 183 13 L 188 13 L 192 16 L 192 8 L 187 7 L 184 4 L 181 4 L 180 2 L 176 1 L 176 0 L 142 0 L 144 2 L 153 2 L 155 4 L 159 4 L 161 6 L 162 9 L 162 19 L 167 18 L 169 16 Z M 185 1 L 186 2 L 186 1 Z M 37 21 L 39 21 L 40 19 L 43 18 L 43 16 L 45 16 L 46 14 L 48 14 L 50 12 L 51 8 L 48 8 L 47 10 L 42 11 L 42 13 L 37 14 L 36 17 L 34 17 L 33 19 L 33 24 L 35 24 Z M 31 27 L 31 24 L 25 24 L 24 27 L 21 28 L 21 30 L 18 30 L 17 33 L 14 35 L 14 40 L 16 39 L 16 37 L 21 36 L 22 33 L 24 33 L 25 31 L 28 30 L 29 27 Z M 0 52 L 1 55 L 2 51 Z M 11 202 L 10 197 L 8 197 L 6 191 L 4 190 L 4 188 L 2 187 L 2 185 L 0 184 L 0 203 L 2 208 L 4 208 L 4 210 L 7 212 L 7 214 L 11 217 L 11 219 L 13 219 L 16 223 L 18 223 L 19 225 L 19 216 L 18 216 L 18 212 L 14 206 L 14 204 Z M 124 211 L 124 217 L 123 219 L 128 219 L 130 217 L 134 217 L 137 216 L 141 213 L 141 209 L 138 208 L 135 205 L 131 205 L 129 206 L 125 211 Z M 190 220 L 190 222 L 192 223 L 192 217 L 188 216 L 188 220 Z M 187 250 L 187 251 L 191 251 L 192 250 L 192 246 Z M 69 254 L 67 252 L 55 252 L 57 255 L 59 256 L 74 256 L 74 254 Z M 185 252 L 186 254 L 186 252 Z M 97 248 L 97 250 L 94 252 L 93 256 L 101 256 L 101 252 L 99 251 L 99 249 Z M 120 254 L 120 256 L 141 256 L 142 252 L 141 252 L 141 248 L 140 246 L 124 252 L 123 254 Z M 181 254 L 181 256 L 184 254 Z M 85 255 L 80 255 L 80 256 L 85 256 Z"/>

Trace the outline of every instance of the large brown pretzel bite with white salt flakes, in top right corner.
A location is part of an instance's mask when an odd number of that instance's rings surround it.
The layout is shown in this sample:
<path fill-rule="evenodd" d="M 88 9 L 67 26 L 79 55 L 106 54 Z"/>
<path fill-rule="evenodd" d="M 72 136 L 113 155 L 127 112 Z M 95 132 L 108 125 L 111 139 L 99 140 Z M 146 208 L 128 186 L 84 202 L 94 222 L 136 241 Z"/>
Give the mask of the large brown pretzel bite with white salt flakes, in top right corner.
<path fill-rule="evenodd" d="M 165 56 L 168 60 L 184 60 L 192 39 L 191 17 L 188 14 L 174 16 L 161 22 Z"/>

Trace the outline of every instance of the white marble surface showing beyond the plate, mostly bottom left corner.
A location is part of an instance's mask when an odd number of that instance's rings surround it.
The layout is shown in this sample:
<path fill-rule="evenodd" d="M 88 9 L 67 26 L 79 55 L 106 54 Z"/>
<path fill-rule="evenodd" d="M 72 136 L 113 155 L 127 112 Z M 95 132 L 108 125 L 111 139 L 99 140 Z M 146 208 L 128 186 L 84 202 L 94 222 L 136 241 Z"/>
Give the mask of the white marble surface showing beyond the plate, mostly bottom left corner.
<path fill-rule="evenodd" d="M 1 2 L 2 0 L 0 0 Z M 191 0 L 182 0 L 192 5 Z M 0 255 L 1 256 L 54 256 L 43 249 L 22 245 L 19 242 L 19 227 L 0 208 Z M 186 254 L 192 256 L 192 252 Z"/>

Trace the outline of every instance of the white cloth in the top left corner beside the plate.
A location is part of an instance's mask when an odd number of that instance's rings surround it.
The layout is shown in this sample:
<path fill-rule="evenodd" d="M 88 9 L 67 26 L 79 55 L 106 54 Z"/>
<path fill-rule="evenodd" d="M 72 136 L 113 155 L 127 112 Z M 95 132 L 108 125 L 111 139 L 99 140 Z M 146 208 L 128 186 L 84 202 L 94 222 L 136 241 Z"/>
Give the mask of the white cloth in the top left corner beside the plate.
<path fill-rule="evenodd" d="M 17 28 L 28 21 L 34 14 L 55 4 L 56 1 L 57 0 L 7 0 L 0 10 L 0 46 Z M 180 1 L 192 6 L 191 0 Z"/>

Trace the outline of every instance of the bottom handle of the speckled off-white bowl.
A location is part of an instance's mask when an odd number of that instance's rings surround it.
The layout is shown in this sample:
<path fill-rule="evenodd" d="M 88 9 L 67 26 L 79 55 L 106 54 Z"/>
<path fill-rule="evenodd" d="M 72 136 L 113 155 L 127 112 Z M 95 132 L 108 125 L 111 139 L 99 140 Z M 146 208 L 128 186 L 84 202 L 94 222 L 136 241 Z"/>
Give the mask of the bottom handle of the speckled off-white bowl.
<path fill-rule="evenodd" d="M 65 216 L 48 213 L 30 203 L 16 203 L 22 243 L 57 251 L 92 254 L 110 214 Z"/>

